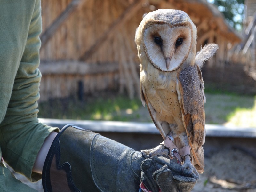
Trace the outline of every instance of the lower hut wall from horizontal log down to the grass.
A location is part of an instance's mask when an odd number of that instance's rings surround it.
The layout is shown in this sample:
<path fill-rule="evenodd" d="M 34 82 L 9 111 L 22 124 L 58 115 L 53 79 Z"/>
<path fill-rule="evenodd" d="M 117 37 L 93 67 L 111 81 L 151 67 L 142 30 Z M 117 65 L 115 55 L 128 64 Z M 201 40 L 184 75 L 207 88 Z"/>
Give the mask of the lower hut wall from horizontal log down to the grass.
<path fill-rule="evenodd" d="M 92 94 L 118 87 L 119 68 L 113 63 L 91 65 L 78 61 L 42 62 L 40 101 L 49 98 L 78 98 L 80 94 Z M 82 87 L 81 87 L 82 86 Z"/>

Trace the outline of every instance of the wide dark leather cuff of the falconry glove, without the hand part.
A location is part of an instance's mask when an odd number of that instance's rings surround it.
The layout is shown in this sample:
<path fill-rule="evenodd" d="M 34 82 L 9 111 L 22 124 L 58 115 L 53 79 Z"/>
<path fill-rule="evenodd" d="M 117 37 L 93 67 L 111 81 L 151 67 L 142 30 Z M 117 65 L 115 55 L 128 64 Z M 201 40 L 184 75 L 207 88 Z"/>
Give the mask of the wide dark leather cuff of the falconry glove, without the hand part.
<path fill-rule="evenodd" d="M 138 191 L 140 152 L 74 125 L 61 129 L 47 154 L 44 191 Z"/>

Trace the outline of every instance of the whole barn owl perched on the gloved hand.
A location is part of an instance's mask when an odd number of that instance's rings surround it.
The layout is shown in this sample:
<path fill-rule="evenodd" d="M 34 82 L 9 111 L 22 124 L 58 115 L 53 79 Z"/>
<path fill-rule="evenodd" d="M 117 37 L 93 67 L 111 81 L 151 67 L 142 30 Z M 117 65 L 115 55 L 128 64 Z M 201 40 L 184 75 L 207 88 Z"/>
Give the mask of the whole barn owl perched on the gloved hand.
<path fill-rule="evenodd" d="M 143 152 L 168 153 L 199 178 L 204 172 L 205 116 L 201 67 L 217 51 L 206 44 L 196 54 L 196 26 L 180 10 L 159 9 L 136 29 L 141 100 L 164 142 Z M 166 147 L 169 148 L 166 152 Z"/>

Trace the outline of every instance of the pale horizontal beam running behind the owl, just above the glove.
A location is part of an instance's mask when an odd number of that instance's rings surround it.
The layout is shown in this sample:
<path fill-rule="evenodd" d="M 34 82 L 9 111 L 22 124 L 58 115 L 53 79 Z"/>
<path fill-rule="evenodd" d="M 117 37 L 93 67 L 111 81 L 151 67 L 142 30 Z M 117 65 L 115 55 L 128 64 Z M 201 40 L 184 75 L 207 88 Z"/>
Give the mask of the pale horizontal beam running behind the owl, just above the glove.
<path fill-rule="evenodd" d="M 43 119 L 39 122 L 60 129 L 67 124 L 74 124 L 78 127 L 93 132 L 114 132 L 114 133 L 138 133 L 160 135 L 153 123 L 141 122 L 120 122 L 120 121 L 88 121 L 88 120 L 67 120 L 67 119 Z M 206 137 L 233 137 L 233 138 L 256 138 L 254 127 L 232 127 L 215 124 L 206 124 Z M 254 140 L 252 144 L 254 144 Z"/>

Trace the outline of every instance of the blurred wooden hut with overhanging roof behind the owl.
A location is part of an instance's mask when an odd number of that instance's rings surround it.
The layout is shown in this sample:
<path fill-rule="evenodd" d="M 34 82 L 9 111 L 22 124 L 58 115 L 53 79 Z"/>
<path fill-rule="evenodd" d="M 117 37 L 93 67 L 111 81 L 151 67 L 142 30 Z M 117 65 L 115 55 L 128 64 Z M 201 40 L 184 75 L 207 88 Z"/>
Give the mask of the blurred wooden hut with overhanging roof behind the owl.
<path fill-rule="evenodd" d="M 135 30 L 155 9 L 180 9 L 197 26 L 199 50 L 219 44 L 210 64 L 222 65 L 240 37 L 205 0 L 41 0 L 41 100 L 104 89 L 139 94 Z"/>

